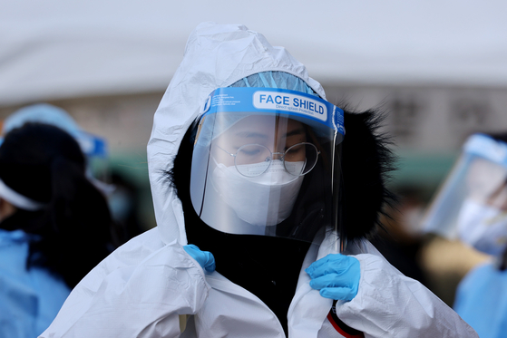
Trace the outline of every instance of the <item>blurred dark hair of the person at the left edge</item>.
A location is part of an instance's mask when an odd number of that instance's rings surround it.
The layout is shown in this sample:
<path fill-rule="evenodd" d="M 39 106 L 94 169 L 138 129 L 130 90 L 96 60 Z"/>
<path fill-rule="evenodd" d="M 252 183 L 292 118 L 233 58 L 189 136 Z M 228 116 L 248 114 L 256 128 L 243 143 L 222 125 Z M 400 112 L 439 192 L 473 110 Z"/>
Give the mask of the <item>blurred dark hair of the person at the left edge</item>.
<path fill-rule="evenodd" d="M 0 179 L 44 204 L 18 208 L 0 227 L 37 235 L 27 268 L 43 266 L 71 288 L 112 251 L 112 218 L 105 197 L 86 178 L 86 159 L 67 132 L 28 122 L 10 131 L 0 147 Z"/>

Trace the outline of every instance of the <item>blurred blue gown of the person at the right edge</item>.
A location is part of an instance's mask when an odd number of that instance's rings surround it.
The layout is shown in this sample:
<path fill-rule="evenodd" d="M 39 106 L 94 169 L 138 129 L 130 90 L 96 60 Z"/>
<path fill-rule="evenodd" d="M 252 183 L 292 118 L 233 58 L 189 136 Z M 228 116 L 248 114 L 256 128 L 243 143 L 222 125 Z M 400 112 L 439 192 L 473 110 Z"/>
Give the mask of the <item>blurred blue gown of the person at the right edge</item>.
<path fill-rule="evenodd" d="M 458 285 L 454 310 L 481 338 L 507 337 L 507 271 L 474 268 Z"/>

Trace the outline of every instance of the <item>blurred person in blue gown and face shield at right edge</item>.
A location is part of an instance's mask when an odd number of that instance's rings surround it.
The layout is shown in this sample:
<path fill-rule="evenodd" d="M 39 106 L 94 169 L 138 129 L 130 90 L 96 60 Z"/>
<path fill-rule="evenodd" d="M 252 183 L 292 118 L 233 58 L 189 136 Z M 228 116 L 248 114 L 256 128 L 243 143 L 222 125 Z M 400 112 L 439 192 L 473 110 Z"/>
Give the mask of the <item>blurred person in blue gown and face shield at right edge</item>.
<path fill-rule="evenodd" d="M 454 309 L 481 337 L 507 330 L 507 134 L 474 134 L 424 218 L 427 231 L 484 255 L 458 286 Z"/>

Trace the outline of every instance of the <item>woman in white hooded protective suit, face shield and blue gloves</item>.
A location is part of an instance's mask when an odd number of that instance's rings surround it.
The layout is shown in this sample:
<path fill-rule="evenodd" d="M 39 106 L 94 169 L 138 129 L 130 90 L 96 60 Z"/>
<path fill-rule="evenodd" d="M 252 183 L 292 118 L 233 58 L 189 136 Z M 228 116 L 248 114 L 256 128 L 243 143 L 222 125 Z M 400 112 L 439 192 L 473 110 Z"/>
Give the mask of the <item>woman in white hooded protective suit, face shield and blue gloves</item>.
<path fill-rule="evenodd" d="M 475 337 L 363 239 L 390 156 L 373 112 L 346 113 L 344 138 L 325 98 L 261 34 L 200 24 L 148 144 L 158 227 L 93 269 L 42 336 Z"/>

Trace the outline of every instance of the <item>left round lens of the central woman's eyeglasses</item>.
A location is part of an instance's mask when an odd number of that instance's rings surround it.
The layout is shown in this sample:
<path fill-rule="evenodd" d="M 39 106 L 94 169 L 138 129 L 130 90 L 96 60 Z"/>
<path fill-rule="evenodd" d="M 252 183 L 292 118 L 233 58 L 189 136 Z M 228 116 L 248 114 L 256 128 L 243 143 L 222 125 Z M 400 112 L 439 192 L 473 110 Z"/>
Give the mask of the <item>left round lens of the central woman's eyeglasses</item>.
<path fill-rule="evenodd" d="M 271 151 L 260 144 L 246 144 L 239 148 L 234 161 L 241 175 L 255 177 L 268 169 Z"/>

